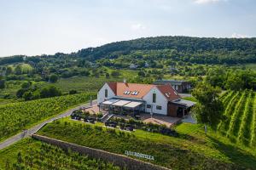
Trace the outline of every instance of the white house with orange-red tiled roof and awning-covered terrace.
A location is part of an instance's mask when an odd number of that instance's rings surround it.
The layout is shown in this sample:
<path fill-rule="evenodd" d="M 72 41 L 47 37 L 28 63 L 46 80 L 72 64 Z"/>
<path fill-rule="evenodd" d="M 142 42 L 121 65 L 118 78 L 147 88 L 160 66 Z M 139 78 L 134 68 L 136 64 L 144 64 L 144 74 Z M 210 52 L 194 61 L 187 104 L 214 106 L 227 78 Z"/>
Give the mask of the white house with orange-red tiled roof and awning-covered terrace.
<path fill-rule="evenodd" d="M 181 99 L 170 84 L 106 82 L 98 91 L 100 108 L 115 114 L 145 112 L 166 116 L 184 116 L 194 102 Z"/>

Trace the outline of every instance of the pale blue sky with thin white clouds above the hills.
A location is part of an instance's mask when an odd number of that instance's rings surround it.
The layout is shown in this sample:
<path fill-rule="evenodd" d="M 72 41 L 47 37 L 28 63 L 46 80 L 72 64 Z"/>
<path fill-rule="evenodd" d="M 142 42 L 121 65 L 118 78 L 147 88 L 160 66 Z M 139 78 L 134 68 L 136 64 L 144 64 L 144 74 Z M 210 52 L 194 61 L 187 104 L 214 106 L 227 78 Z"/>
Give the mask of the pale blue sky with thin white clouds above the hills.
<path fill-rule="evenodd" d="M 256 37 L 256 0 L 0 0 L 0 57 L 138 37 Z"/>

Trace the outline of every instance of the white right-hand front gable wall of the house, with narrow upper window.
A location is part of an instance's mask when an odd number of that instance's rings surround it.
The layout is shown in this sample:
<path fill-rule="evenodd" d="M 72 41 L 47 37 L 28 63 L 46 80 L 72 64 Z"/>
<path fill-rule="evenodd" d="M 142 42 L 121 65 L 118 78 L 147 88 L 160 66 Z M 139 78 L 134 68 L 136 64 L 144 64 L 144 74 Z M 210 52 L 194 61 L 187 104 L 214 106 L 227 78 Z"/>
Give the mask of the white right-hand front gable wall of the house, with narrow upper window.
<path fill-rule="evenodd" d="M 156 101 L 155 103 L 153 103 L 153 94 L 156 94 Z M 167 99 L 166 97 L 160 92 L 160 90 L 158 88 L 152 88 L 148 94 L 146 94 L 143 99 L 146 101 L 146 112 L 150 113 L 151 109 L 153 111 L 153 113 L 157 113 L 160 115 L 167 115 Z M 147 108 L 147 105 L 151 105 L 151 109 Z M 162 106 L 161 110 L 157 110 L 156 109 L 156 105 L 160 105 Z"/>

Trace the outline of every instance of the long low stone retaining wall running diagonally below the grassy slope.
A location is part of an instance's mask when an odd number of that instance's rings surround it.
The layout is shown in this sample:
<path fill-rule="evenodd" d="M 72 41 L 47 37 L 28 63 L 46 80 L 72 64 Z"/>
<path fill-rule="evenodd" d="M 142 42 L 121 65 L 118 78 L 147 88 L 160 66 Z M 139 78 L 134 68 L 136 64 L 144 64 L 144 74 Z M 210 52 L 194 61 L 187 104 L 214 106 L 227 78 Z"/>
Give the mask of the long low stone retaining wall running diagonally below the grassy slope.
<path fill-rule="evenodd" d="M 44 141 L 48 144 L 57 145 L 65 150 L 70 149 L 70 150 L 79 152 L 81 154 L 88 155 L 90 157 L 102 159 L 103 161 L 113 162 L 114 165 L 119 166 L 119 167 L 125 167 L 126 169 L 131 169 L 131 170 L 143 170 L 143 169 L 145 169 L 145 170 L 146 169 L 147 170 L 148 169 L 150 169 L 150 170 L 168 170 L 168 168 L 166 168 L 166 167 L 159 167 L 152 163 L 145 162 L 145 161 L 139 161 L 137 159 L 133 159 L 128 156 L 114 154 L 114 153 L 104 151 L 104 150 L 96 150 L 96 149 L 81 146 L 78 144 L 64 142 L 64 141 L 61 141 L 58 139 L 50 139 L 48 137 L 41 136 L 38 134 L 32 134 L 32 138 Z"/>

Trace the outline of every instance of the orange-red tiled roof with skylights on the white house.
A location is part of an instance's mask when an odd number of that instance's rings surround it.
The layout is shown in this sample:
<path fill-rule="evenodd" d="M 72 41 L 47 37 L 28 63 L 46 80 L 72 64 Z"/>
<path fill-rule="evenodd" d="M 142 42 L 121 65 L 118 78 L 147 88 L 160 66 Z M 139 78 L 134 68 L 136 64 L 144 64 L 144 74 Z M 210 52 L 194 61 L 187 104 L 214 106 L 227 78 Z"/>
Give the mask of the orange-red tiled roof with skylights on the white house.
<path fill-rule="evenodd" d="M 124 83 L 124 82 L 108 82 L 109 88 L 113 90 L 113 93 L 117 96 L 125 98 L 137 98 L 142 99 L 144 95 L 148 94 L 151 88 L 157 87 L 160 92 L 168 100 L 179 99 L 180 96 L 172 88 L 170 84 L 166 85 L 154 85 L 154 84 L 137 84 L 137 83 Z M 130 91 L 130 94 L 124 94 L 125 91 Z M 137 91 L 137 95 L 132 95 L 133 92 Z"/>

